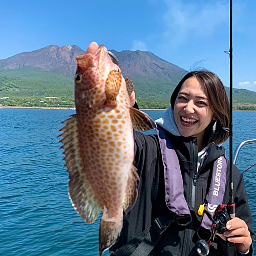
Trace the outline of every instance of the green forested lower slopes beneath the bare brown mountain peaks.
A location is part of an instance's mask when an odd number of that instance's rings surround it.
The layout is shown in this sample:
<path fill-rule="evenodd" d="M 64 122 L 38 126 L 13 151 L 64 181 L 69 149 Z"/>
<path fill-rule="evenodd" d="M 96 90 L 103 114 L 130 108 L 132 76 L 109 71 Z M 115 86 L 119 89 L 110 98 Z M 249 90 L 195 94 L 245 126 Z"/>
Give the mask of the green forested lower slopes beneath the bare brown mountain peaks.
<path fill-rule="evenodd" d="M 155 109 L 167 108 L 170 95 L 178 82 L 143 77 L 132 80 L 140 108 Z M 229 94 L 229 88 L 226 89 Z M 236 109 L 256 110 L 256 92 L 234 89 L 233 100 Z M 0 72 L 0 104 L 72 107 L 74 106 L 74 82 L 52 71 L 35 71 L 25 68 L 2 71 Z"/>

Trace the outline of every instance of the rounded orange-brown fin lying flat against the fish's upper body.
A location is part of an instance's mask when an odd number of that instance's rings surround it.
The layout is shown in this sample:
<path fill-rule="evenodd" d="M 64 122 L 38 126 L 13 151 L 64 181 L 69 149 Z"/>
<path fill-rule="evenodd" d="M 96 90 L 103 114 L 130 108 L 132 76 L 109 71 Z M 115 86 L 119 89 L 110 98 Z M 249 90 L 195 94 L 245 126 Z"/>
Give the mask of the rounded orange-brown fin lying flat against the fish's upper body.
<path fill-rule="evenodd" d="M 105 82 L 106 104 L 116 105 L 116 97 L 122 83 L 122 75 L 119 70 L 112 70 Z"/>

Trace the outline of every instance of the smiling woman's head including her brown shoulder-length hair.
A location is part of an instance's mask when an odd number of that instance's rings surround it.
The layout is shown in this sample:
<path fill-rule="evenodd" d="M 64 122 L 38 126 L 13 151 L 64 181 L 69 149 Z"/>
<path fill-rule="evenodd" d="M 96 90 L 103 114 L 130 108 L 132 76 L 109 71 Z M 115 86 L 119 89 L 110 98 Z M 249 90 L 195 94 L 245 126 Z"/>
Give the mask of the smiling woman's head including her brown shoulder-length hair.
<path fill-rule="evenodd" d="M 219 144 L 227 140 L 228 133 L 223 127 L 229 125 L 229 103 L 223 83 L 214 73 L 186 74 L 174 90 L 170 104 L 179 132 L 184 137 L 198 137 L 199 150 L 209 142 Z"/>

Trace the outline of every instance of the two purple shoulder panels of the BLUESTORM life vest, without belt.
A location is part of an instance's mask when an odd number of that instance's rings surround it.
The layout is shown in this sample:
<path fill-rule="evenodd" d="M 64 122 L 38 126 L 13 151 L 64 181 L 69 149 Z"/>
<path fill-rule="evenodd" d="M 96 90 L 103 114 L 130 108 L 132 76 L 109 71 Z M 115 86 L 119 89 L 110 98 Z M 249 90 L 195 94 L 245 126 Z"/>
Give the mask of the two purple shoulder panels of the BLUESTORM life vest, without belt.
<path fill-rule="evenodd" d="M 179 159 L 175 152 L 168 132 L 161 126 L 156 129 L 160 142 L 163 166 L 164 166 L 164 184 L 165 184 L 165 202 L 167 208 L 179 218 L 190 216 L 190 210 L 184 197 L 183 180 L 179 165 Z M 205 198 L 205 210 L 211 217 L 219 204 L 222 204 L 227 176 L 227 159 L 225 155 L 220 156 L 212 169 L 210 187 Z M 212 221 L 203 214 L 201 227 L 210 230 Z"/>

